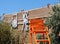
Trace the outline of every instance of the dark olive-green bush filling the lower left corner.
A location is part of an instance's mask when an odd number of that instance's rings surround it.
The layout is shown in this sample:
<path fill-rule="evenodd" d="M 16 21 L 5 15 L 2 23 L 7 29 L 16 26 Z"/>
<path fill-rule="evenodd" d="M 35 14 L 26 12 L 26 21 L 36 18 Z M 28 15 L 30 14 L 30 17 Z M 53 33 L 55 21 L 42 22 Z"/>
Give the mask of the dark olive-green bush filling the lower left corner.
<path fill-rule="evenodd" d="M 11 43 L 11 27 L 9 24 L 0 22 L 0 44 L 10 44 Z"/>

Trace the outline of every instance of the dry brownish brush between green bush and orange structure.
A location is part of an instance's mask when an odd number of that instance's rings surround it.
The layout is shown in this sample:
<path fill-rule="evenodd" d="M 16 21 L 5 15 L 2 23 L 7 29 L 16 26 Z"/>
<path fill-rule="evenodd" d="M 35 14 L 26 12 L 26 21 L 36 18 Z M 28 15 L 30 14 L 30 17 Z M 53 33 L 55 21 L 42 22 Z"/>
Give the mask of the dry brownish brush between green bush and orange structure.
<path fill-rule="evenodd" d="M 15 44 L 28 44 L 29 43 L 29 32 L 22 30 L 13 30 L 12 36 L 14 38 Z"/>

